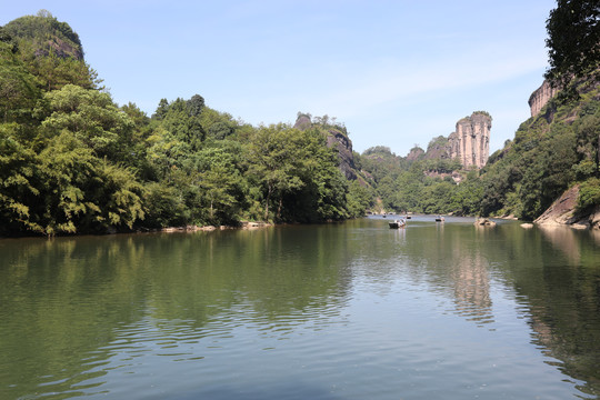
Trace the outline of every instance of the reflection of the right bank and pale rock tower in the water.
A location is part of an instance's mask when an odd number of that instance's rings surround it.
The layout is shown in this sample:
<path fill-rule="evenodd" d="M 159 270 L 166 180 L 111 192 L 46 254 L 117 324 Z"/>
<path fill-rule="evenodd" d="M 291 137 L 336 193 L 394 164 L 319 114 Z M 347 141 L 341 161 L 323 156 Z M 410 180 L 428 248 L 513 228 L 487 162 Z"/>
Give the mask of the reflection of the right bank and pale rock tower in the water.
<path fill-rule="evenodd" d="M 598 232 L 413 221 L 404 234 L 396 251 L 377 248 L 392 259 L 386 269 L 379 261 L 379 273 L 426 281 L 430 291 L 452 300 L 452 312 L 478 326 L 494 322 L 491 287 L 509 288 L 547 362 L 581 381 L 581 393 L 600 397 Z"/>

